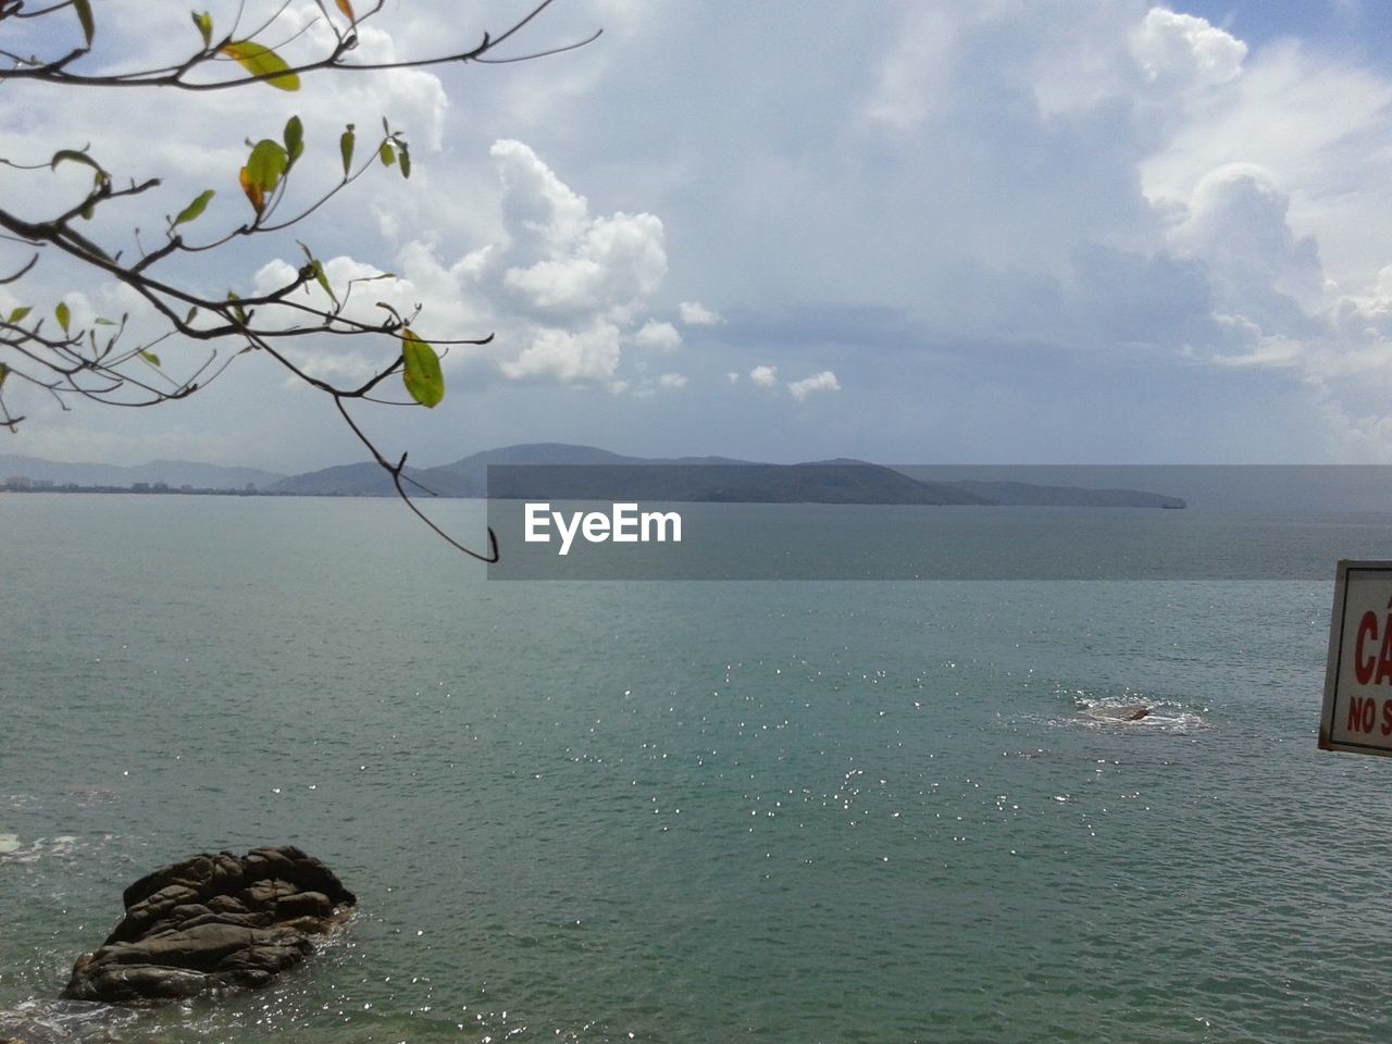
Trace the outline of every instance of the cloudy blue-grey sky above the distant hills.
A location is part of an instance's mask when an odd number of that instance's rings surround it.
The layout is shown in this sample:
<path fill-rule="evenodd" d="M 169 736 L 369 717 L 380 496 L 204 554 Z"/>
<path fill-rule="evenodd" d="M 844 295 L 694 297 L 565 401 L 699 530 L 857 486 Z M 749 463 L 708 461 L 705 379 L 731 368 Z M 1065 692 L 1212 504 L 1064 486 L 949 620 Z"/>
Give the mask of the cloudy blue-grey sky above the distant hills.
<path fill-rule="evenodd" d="M 209 10 L 231 24 L 231 6 Z M 526 10 L 388 0 L 358 53 L 468 47 Z M 93 71 L 198 42 L 168 4 L 93 11 Z M 308 53 L 316 18 L 292 0 L 266 39 L 302 28 L 285 52 Z M 280 237 L 161 273 L 266 291 L 299 239 L 340 287 L 394 273 L 361 299 L 422 305 L 427 340 L 493 333 L 450 351 L 437 408 L 356 415 L 422 466 L 533 441 L 780 462 L 1392 462 L 1381 0 L 555 0 L 508 54 L 596 29 L 535 61 L 316 74 L 295 93 L 10 85 L 0 156 L 89 145 L 118 180 L 160 177 L 93 223 L 120 244 L 142 227 L 157 241 L 213 188 L 189 227 L 212 238 L 248 216 L 246 141 L 298 114 L 309 199 L 334 181 L 344 124 L 388 118 L 409 181 L 374 171 Z M 47 216 L 85 177 L 0 167 L 0 198 Z M 0 244 L 7 267 L 24 256 Z M 6 310 L 58 299 L 79 319 L 134 308 L 47 259 L 0 285 Z M 296 359 L 352 380 L 391 349 L 333 338 Z M 203 358 L 159 352 L 171 372 Z M 326 397 L 255 354 L 153 409 L 7 397 L 28 419 L 0 452 L 278 472 L 365 458 Z"/>

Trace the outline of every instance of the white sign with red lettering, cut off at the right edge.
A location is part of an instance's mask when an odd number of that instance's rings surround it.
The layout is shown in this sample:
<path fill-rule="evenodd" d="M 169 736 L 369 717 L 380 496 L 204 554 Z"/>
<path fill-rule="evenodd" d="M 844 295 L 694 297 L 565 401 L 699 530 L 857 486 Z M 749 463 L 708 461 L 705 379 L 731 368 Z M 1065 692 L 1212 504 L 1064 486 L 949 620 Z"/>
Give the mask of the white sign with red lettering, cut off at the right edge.
<path fill-rule="evenodd" d="M 1320 749 L 1392 756 L 1392 562 L 1339 562 Z"/>

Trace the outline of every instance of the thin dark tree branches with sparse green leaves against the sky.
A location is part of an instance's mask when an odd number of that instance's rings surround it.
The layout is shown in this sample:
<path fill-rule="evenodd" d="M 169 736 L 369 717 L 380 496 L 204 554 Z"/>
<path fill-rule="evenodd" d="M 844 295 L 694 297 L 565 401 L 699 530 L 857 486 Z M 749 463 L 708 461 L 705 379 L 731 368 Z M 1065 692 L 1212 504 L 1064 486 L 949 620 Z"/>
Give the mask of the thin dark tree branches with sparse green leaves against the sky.
<path fill-rule="evenodd" d="M 6 21 L 56 19 L 74 17 L 82 43 L 60 47 L 47 57 L 21 56 L 0 49 L 0 85 L 6 81 L 38 81 L 64 86 L 125 88 L 166 86 L 180 90 L 220 90 L 266 84 L 280 90 L 298 90 L 301 77 L 312 72 L 367 72 L 393 68 L 419 68 L 443 63 L 504 63 L 555 54 L 583 46 L 599 33 L 583 40 L 550 47 L 529 54 L 497 57 L 494 52 L 512 40 L 537 18 L 554 0 L 541 0 L 521 18 L 497 35 L 484 33 L 483 40 L 468 50 L 437 57 L 408 58 L 390 63 L 354 63 L 349 60 L 359 43 L 361 26 L 383 8 L 377 0 L 363 13 L 356 13 L 351 0 L 334 0 L 333 10 L 315 0 L 317 21 L 327 25 L 331 43 L 327 52 L 305 60 L 287 61 L 281 49 L 262 43 L 270 38 L 285 15 L 288 0 L 270 18 L 249 31 L 241 31 L 244 10 L 230 31 L 219 33 L 206 11 L 193 11 L 192 24 L 200 46 L 195 46 L 184 60 L 161 68 L 118 70 L 114 72 L 86 72 L 85 60 L 93 54 L 97 25 L 90 0 L 61 0 L 31 8 L 25 0 L 0 0 L 0 31 Z M 296 33 L 303 35 L 303 29 Z M 63 33 L 46 31 L 45 39 L 61 39 Z M 237 75 L 206 78 L 210 70 L 235 67 Z M 255 296 L 239 296 L 234 290 L 209 296 L 187 278 L 185 258 L 216 252 L 237 239 L 273 235 L 301 224 L 374 167 L 395 168 L 402 178 L 411 177 L 411 148 L 402 131 L 383 120 L 381 135 L 369 141 L 359 155 L 359 136 L 354 124 L 338 135 L 338 180 L 326 191 L 312 195 L 309 202 L 291 205 L 290 185 L 296 181 L 306 157 L 303 125 L 291 117 L 278 138 L 246 142 L 245 161 L 237 170 L 237 185 L 249 209 L 248 217 L 207 237 L 196 237 L 195 228 L 203 220 L 217 189 L 205 188 L 171 216 L 166 214 L 163 241 L 146 249 L 135 232 L 135 246 L 106 242 L 92 231 L 93 217 L 160 188 L 159 178 L 117 181 L 88 146 L 63 148 L 49 157 L 29 157 L 21 161 L 0 157 L 0 164 L 31 177 L 52 175 L 60 167 L 85 167 L 90 184 L 75 198 L 58 205 L 52 214 L 22 214 L 10 202 L 11 191 L 0 200 L 0 239 L 18 244 L 28 258 L 11 271 L 0 271 L 0 285 L 22 299 L 19 288 L 31 280 L 46 259 L 75 263 L 79 269 L 114 280 L 128 287 L 153 312 L 163 330 L 141 338 L 129 313 L 120 319 L 96 316 L 78 322 L 67 301 L 57 301 L 50 310 L 39 310 L 24 303 L 0 315 L 0 427 L 11 432 L 25 420 L 11 412 L 6 402 L 7 388 L 28 384 L 56 400 L 68 409 L 70 398 L 84 398 L 121 406 L 152 406 L 187 398 L 209 381 L 216 380 L 237 355 L 259 352 L 273 359 L 296 380 L 330 397 L 354 436 L 366 447 L 373 459 L 390 475 L 397 494 L 416 515 L 451 546 L 483 560 L 497 561 L 497 540 L 489 530 L 486 553 L 473 551 L 455 541 L 433 523 L 413 503 L 405 489 L 405 454 L 395 462 L 377 448 L 373 438 L 354 418 L 351 405 L 356 401 L 397 402 L 433 408 L 444 398 L 444 376 L 440 359 L 455 345 L 484 345 L 491 334 L 470 338 L 423 337 L 415 330 L 420 305 L 402 315 L 381 301 L 381 317 L 365 319 L 361 309 L 349 305 L 365 283 L 390 280 L 390 273 L 359 277 L 344 285 L 334 285 L 323 262 L 310 246 L 298 242 L 303 263 L 294 277 L 270 291 Z M 331 161 L 331 160 L 330 160 Z M 288 212 L 288 213 L 287 213 Z M 129 256 L 128 256 L 129 255 Z M 384 340 L 391 345 L 388 362 L 377 367 L 361 383 L 334 381 L 310 373 L 291 354 L 295 344 L 308 337 L 349 337 Z M 166 365 L 156 348 L 166 344 L 198 344 L 202 354 L 191 365 L 177 369 Z M 174 358 L 174 356 L 170 356 Z M 398 376 L 405 401 L 381 398 L 383 383 Z M 427 490 L 429 493 L 429 490 Z"/>

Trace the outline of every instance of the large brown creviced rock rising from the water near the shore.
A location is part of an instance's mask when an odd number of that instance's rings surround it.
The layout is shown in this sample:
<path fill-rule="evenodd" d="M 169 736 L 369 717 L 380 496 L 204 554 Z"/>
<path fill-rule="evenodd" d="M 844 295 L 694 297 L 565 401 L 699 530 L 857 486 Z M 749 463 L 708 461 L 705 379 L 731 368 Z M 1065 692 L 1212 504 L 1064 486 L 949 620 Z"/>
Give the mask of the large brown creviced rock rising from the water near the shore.
<path fill-rule="evenodd" d="M 198 855 L 122 894 L 125 916 L 78 958 L 65 999 L 157 1004 L 266 986 L 315 952 L 310 935 L 344 920 L 356 896 L 292 845 Z"/>

